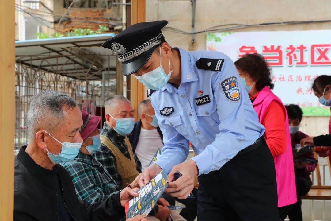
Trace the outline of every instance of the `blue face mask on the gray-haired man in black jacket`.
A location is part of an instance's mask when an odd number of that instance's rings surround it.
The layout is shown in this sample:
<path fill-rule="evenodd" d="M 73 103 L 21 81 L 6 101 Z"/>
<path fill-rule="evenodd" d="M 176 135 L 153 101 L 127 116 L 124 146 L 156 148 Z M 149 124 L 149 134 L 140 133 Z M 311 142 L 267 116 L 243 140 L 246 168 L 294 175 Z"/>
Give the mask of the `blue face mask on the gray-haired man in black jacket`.
<path fill-rule="evenodd" d="M 55 137 L 50 135 L 47 131 L 44 131 L 44 132 L 46 134 L 48 134 L 49 136 L 51 136 L 56 141 L 58 141 L 59 143 L 61 143 Z M 46 148 L 46 151 L 48 152 L 47 156 L 54 164 L 69 162 L 78 155 L 80 147 L 82 146 L 82 143 L 83 143 L 83 141 L 81 141 L 80 143 L 63 142 L 63 143 L 61 143 L 62 144 L 61 152 L 58 155 L 50 153 L 48 151 L 48 149 Z"/>

